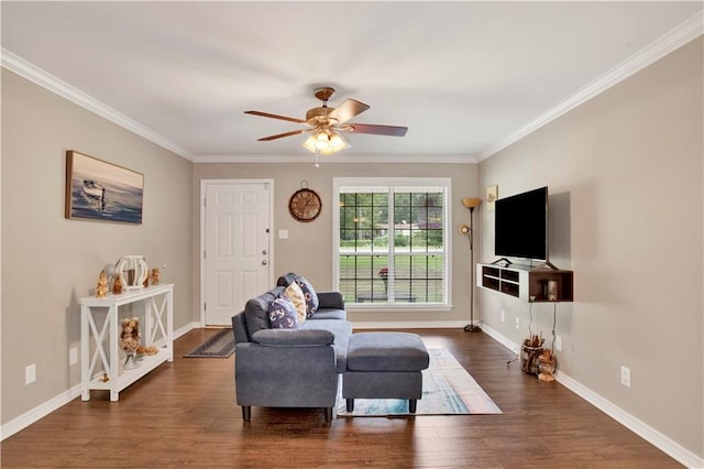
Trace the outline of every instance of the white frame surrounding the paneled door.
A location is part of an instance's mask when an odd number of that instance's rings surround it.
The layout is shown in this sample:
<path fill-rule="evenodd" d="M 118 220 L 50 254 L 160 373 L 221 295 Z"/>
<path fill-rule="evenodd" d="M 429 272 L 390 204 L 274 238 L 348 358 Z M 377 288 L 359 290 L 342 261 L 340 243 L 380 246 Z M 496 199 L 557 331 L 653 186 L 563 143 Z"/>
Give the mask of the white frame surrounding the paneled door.
<path fill-rule="evenodd" d="M 200 179 L 200 197 L 198 200 L 198 210 L 200 211 L 200 248 L 198 250 L 198 258 L 200 259 L 200 297 L 198 299 L 198 309 L 200 310 L 200 327 L 206 326 L 206 259 L 204 252 L 206 252 L 206 194 L 208 186 L 210 185 L 239 185 L 239 184 L 268 184 L 270 197 L 268 197 L 268 212 L 270 212 L 270 227 L 268 227 L 268 283 L 274 284 L 274 179 Z M 264 293 L 264 292 L 262 292 Z M 238 312 L 239 313 L 239 312 Z"/>

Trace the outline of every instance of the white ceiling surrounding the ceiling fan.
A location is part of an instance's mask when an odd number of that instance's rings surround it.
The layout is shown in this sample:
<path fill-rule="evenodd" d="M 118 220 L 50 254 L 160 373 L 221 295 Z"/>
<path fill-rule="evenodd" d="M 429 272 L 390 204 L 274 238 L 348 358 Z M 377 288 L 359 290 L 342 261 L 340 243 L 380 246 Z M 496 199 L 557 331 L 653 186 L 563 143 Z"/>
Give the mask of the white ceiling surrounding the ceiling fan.
<path fill-rule="evenodd" d="M 371 106 L 345 155 L 481 160 L 701 34 L 702 2 L 11 2 L 3 66 L 194 161 L 309 155 L 314 88 Z M 73 89 L 75 88 L 75 89 Z M 85 94 L 85 95 L 81 95 Z M 86 96 L 87 95 L 87 96 Z"/>

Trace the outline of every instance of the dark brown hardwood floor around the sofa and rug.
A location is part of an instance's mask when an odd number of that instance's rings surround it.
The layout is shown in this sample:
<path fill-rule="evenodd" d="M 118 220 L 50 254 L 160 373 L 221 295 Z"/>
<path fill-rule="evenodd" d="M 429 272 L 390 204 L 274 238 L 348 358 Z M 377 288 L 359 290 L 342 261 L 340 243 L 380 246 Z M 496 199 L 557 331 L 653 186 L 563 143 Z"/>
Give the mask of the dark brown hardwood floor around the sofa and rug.
<path fill-rule="evenodd" d="M 675 460 L 559 383 L 506 367 L 512 353 L 484 334 L 415 329 L 444 347 L 502 408 L 501 415 L 339 417 L 321 410 L 234 403 L 233 362 L 182 358 L 216 329 L 175 342 L 175 360 L 111 403 L 94 391 L 9 437 L 3 468 L 669 468 Z"/>

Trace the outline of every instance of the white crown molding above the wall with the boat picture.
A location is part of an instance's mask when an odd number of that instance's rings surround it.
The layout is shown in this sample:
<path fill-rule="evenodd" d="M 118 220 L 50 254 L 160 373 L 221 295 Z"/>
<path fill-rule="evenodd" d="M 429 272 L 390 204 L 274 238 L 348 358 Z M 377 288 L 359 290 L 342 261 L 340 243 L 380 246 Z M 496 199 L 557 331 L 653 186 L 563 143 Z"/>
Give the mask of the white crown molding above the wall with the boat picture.
<path fill-rule="evenodd" d="M 156 143 L 157 145 L 176 153 L 186 160 L 193 161 L 194 155 L 183 146 L 174 143 L 165 137 L 156 133 L 152 129 L 141 124 L 140 122 L 124 116 L 102 101 L 91 97 L 67 84 L 66 81 L 51 75 L 42 68 L 26 62 L 22 57 L 13 54 L 12 52 L 1 50 L 0 65 L 10 72 L 14 72 L 28 80 L 48 89 L 50 91 L 58 95 L 69 101 L 91 111 L 96 114 L 108 119 L 109 121 L 117 123 L 118 126 L 136 133 L 144 139 Z"/>

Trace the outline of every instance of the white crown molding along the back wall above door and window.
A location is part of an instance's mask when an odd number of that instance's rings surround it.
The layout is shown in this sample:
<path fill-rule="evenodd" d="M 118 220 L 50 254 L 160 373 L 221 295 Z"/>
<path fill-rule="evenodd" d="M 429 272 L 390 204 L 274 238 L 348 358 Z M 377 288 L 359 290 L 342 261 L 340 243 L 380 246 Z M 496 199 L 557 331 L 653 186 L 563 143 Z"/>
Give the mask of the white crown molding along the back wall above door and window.
<path fill-rule="evenodd" d="M 300 163 L 300 164 L 315 164 L 316 156 L 312 153 L 309 154 L 280 154 L 280 155 L 195 155 L 193 157 L 194 163 Z M 410 163 L 420 164 L 468 164 L 477 163 L 475 156 L 471 155 L 355 155 L 355 154 L 336 154 L 336 155 L 319 155 L 318 162 L 320 164 L 330 163 Z"/>

